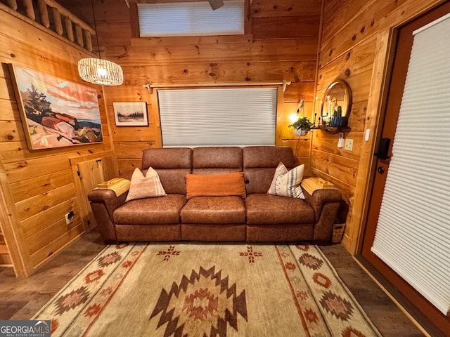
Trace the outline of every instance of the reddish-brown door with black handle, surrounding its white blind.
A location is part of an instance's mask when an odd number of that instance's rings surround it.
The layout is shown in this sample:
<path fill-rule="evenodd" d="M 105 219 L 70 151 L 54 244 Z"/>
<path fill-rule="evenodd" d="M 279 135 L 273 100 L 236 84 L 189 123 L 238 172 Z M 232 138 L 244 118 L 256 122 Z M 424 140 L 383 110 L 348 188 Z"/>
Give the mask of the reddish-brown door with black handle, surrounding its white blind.
<path fill-rule="evenodd" d="M 448 13 L 450 13 L 450 3 L 447 1 L 442 6 L 435 8 L 435 10 L 430 13 L 409 22 L 399 29 L 383 124 L 383 136 L 382 140 L 380 140 L 380 148 L 378 149 L 378 152 L 375 153 L 375 156 L 377 156 L 377 166 L 373 182 L 373 191 L 371 194 L 371 204 L 368 211 L 366 232 L 364 234 L 364 242 L 361 250 L 361 255 L 366 258 L 366 260 L 371 263 L 381 275 L 386 279 L 389 279 L 390 282 L 441 331 L 450 331 L 449 317 L 437 310 L 435 305 L 432 305 L 430 301 L 419 293 L 419 291 L 416 291 L 413 286 L 400 277 L 388 263 L 385 263 L 385 260 L 382 260 L 375 255 L 375 253 L 373 253 L 373 246 L 377 227 L 380 227 L 380 209 L 383 204 L 387 173 L 389 171 L 390 163 L 394 159 L 392 145 L 397 130 L 397 121 L 401 110 L 411 48 L 413 46 L 413 32 L 420 29 L 420 27 L 428 25 L 430 22 L 434 22 L 438 18 L 442 18 Z M 448 39 L 448 36 L 443 36 L 442 39 Z M 430 123 L 432 122 L 433 121 L 430 121 Z M 429 137 L 432 136 L 432 134 L 429 135 Z M 411 158 L 414 158 L 415 155 L 415 153 L 408 154 Z M 424 174 L 426 173 L 424 172 Z M 392 180 L 390 180 L 389 183 L 392 183 Z M 395 183 L 398 183 L 398 181 L 395 181 L 394 184 Z M 419 195 L 418 197 L 424 198 L 426 197 L 426 194 Z M 426 201 L 424 202 L 424 207 L 425 204 Z M 427 211 L 424 210 L 424 213 L 426 214 Z M 394 225 L 397 225 L 397 220 L 391 219 L 391 221 Z M 426 253 L 423 252 L 423 255 L 426 256 Z"/>

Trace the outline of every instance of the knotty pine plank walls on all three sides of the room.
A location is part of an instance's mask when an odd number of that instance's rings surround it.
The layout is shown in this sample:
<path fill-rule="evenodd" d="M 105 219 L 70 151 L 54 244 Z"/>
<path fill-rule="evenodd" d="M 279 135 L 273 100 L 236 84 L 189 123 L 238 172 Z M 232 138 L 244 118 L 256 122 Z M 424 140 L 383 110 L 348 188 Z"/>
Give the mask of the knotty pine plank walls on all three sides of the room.
<path fill-rule="evenodd" d="M 94 1 L 99 53 L 122 65 L 125 78 L 123 86 L 104 88 L 104 97 L 99 100 L 103 144 L 27 150 L 11 77 L 6 65 L 0 69 L 0 263 L 12 262 L 18 275 L 28 275 L 83 231 L 70 158 L 91 158 L 92 154 L 102 157 L 114 150 L 120 174 L 128 175 L 141 165 L 144 148 L 162 146 L 156 95 L 143 88 L 149 82 L 291 81 L 278 110 L 276 144 L 293 147 L 297 161 L 307 164 L 307 172 L 314 171 L 340 188 L 349 206 L 343 243 L 354 252 L 373 171 L 390 29 L 441 2 L 253 0 L 249 5 L 250 32 L 243 37 L 139 39 L 131 36 L 136 22 L 132 22 L 125 1 Z M 94 26 L 91 1 L 60 3 Z M 0 17 L 2 63 L 82 82 L 76 64 L 86 54 L 80 48 L 3 11 Z M 296 138 L 287 128 L 298 100 L 306 99 L 305 114 L 314 117 L 316 96 L 320 98 L 336 78 L 344 79 L 352 88 L 352 131 L 345 135 L 354 140 L 352 152 L 337 147 L 338 135 L 314 131 Z M 97 90 L 103 96 L 101 88 Z M 148 127 L 115 126 L 113 102 L 127 101 L 147 103 Z M 371 137 L 366 142 L 363 135 L 368 128 Z M 64 214 L 70 210 L 75 211 L 76 218 L 67 226 Z"/>

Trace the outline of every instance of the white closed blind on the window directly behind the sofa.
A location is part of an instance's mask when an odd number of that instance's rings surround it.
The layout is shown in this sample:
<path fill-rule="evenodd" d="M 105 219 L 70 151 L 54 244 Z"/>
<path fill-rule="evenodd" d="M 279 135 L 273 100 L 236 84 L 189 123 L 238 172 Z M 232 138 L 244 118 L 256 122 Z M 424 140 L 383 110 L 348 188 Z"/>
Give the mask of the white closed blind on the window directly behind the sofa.
<path fill-rule="evenodd" d="M 274 145 L 276 90 L 158 90 L 162 144 Z"/>

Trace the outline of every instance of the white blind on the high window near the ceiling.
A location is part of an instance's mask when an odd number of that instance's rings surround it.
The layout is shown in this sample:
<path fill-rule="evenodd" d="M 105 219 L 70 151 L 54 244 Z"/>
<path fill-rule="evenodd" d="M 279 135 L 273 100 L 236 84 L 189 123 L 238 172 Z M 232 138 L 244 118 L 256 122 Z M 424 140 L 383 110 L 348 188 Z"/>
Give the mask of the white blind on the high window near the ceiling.
<path fill-rule="evenodd" d="M 244 34 L 244 0 L 225 0 L 214 11 L 207 1 L 137 6 L 140 37 Z"/>

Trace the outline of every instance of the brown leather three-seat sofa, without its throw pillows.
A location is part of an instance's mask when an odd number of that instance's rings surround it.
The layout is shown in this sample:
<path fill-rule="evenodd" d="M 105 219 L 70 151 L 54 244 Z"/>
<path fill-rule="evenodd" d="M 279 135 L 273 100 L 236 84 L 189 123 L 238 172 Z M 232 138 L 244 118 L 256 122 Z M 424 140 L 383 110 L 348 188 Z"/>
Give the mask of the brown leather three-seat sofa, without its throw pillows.
<path fill-rule="evenodd" d="M 305 199 L 267 194 L 278 163 L 295 165 L 290 147 L 146 149 L 142 170 L 158 172 L 166 197 L 125 203 L 127 192 L 89 193 L 106 243 L 159 241 L 330 242 L 340 205 L 337 190 L 304 191 Z M 245 172 L 246 197 L 186 199 L 186 174 Z"/>

